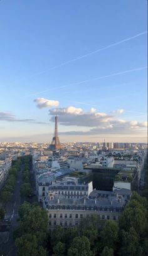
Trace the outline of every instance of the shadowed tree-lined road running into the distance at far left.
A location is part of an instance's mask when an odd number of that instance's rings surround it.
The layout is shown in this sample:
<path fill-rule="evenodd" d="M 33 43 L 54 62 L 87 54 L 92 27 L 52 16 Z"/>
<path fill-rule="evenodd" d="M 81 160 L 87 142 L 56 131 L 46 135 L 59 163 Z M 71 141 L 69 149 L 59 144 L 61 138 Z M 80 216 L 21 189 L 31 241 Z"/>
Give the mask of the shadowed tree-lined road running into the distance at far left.
<path fill-rule="evenodd" d="M 16 248 L 14 245 L 13 240 L 13 232 L 17 227 L 17 219 L 18 219 L 18 209 L 21 203 L 23 203 L 24 198 L 20 196 L 20 186 L 23 183 L 22 181 L 22 168 L 21 171 L 18 173 L 16 186 L 14 188 L 13 196 L 11 201 L 9 201 L 6 205 L 6 218 L 11 219 L 11 226 L 9 230 L 9 239 L 8 242 L 3 243 L 0 245 L 0 256 L 15 256 L 16 255 Z"/>

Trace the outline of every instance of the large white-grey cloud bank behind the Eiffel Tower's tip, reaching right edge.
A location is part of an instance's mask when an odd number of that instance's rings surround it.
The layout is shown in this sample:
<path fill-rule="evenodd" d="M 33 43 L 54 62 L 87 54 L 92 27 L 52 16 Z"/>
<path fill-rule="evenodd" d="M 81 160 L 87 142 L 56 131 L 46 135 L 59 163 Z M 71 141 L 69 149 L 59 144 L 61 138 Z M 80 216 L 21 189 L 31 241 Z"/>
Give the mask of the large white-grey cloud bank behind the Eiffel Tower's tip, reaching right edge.
<path fill-rule="evenodd" d="M 90 109 L 89 112 L 73 106 L 66 108 L 56 108 L 49 110 L 51 121 L 55 121 L 58 115 L 59 124 L 67 126 L 89 127 L 89 131 L 70 131 L 71 135 L 93 135 L 93 134 L 133 134 L 147 131 L 147 122 L 137 122 L 137 120 L 122 120 L 119 115 L 124 113 L 124 109 L 113 111 L 111 114 L 97 112 Z"/>

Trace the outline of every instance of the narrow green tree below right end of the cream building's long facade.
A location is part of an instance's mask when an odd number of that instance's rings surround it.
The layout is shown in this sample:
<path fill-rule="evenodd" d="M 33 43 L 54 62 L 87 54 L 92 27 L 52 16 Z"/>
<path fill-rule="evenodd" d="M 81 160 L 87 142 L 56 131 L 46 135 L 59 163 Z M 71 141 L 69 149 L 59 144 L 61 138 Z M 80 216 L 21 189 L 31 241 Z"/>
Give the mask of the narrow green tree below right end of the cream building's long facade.
<path fill-rule="evenodd" d="M 103 246 L 113 248 L 115 250 L 118 239 L 119 225 L 113 220 L 108 220 L 102 230 L 102 243 Z"/>

